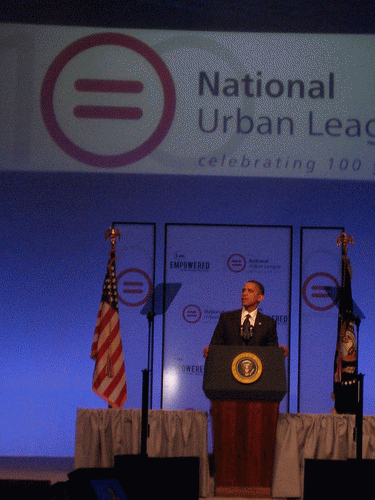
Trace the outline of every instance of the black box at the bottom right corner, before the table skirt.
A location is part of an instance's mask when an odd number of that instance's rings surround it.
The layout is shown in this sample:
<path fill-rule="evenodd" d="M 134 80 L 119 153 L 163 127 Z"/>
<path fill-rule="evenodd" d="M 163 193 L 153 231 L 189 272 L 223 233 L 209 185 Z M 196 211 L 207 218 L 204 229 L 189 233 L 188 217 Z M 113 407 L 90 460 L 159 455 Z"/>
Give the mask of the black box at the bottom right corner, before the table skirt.
<path fill-rule="evenodd" d="M 306 459 L 304 500 L 353 500 L 372 490 L 374 474 L 375 460 Z"/>

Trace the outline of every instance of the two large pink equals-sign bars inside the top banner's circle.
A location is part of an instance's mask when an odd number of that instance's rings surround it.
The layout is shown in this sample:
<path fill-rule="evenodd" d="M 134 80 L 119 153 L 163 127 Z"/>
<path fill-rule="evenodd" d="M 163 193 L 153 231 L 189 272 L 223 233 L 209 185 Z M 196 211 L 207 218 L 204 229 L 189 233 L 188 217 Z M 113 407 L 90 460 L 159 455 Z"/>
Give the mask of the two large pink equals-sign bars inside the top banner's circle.
<path fill-rule="evenodd" d="M 78 92 L 103 92 L 117 94 L 140 94 L 143 83 L 138 80 L 100 80 L 79 79 L 74 88 Z M 127 106 L 76 106 L 76 118 L 91 118 L 96 120 L 139 120 L 142 118 L 142 109 Z"/>

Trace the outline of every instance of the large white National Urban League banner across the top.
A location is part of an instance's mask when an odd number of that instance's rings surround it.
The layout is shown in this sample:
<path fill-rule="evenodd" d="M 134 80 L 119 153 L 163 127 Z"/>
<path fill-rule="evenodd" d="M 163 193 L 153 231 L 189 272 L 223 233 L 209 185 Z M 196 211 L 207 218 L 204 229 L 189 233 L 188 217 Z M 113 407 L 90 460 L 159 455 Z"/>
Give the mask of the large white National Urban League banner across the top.
<path fill-rule="evenodd" d="M 0 168 L 374 179 L 373 35 L 0 25 Z"/>

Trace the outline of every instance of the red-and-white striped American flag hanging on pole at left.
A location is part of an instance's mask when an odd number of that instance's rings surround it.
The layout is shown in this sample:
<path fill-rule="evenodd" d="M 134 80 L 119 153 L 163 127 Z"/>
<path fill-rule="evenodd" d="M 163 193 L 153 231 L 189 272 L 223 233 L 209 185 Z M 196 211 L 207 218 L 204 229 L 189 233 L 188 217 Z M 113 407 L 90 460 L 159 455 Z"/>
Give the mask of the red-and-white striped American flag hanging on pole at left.
<path fill-rule="evenodd" d="M 110 407 L 122 408 L 127 398 L 127 388 L 118 314 L 115 260 L 116 254 L 112 249 L 91 347 L 91 357 L 95 360 L 92 388 Z"/>

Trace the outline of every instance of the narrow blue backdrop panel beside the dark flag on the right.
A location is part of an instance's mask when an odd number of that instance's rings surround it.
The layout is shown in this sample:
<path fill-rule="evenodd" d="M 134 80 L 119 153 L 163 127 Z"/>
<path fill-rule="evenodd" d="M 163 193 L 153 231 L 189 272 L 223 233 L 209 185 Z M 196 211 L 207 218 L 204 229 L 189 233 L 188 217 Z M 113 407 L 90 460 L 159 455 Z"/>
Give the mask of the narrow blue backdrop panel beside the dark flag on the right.
<path fill-rule="evenodd" d="M 299 411 L 330 413 L 343 228 L 301 228 Z M 327 288 L 329 287 L 329 288 Z M 329 290 L 332 290 L 329 292 Z"/>

